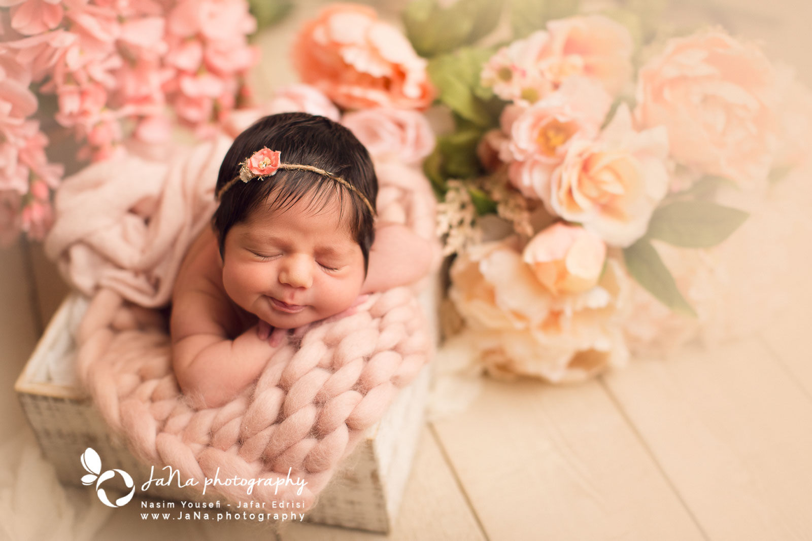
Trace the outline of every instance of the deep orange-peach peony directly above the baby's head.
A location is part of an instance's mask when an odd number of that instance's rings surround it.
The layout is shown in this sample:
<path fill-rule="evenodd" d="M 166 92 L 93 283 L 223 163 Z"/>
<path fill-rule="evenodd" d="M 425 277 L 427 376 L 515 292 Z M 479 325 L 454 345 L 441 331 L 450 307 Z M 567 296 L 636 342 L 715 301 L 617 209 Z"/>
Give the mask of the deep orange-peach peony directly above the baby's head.
<path fill-rule="evenodd" d="M 426 63 L 374 9 L 354 4 L 326 6 L 293 44 L 300 78 L 348 109 L 427 108 L 436 91 Z"/>

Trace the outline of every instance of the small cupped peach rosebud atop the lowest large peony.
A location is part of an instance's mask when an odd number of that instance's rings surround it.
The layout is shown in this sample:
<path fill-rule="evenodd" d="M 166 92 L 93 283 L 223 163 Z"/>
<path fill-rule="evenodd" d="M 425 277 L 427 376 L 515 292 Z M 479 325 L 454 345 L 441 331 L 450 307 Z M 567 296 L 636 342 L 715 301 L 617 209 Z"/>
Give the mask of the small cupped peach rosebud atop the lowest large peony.
<path fill-rule="evenodd" d="M 607 246 L 597 235 L 559 221 L 530 239 L 522 259 L 555 295 L 594 287 L 606 255 Z"/>

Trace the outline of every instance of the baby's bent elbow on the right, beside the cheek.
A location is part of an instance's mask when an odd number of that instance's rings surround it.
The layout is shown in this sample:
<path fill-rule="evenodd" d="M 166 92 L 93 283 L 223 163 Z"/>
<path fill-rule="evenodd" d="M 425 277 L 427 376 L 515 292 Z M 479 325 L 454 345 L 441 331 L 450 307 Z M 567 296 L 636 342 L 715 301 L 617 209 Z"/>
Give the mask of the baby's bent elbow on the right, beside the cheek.
<path fill-rule="evenodd" d="M 425 277 L 431 265 L 432 248 L 430 241 L 405 225 L 378 225 L 361 293 L 391 290 Z"/>

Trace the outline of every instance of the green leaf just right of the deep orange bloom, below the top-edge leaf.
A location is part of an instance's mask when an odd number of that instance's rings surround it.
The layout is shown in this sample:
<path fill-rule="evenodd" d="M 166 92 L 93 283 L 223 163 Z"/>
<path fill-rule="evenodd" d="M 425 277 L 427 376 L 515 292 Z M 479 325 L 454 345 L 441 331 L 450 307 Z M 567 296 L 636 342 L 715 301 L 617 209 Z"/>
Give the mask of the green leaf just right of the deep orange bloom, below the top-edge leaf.
<path fill-rule="evenodd" d="M 429 62 L 429 75 L 439 90 L 439 100 L 460 117 L 481 127 L 496 124 L 490 102 L 479 96 L 488 95 L 482 89 L 479 73 L 490 58 L 491 49 L 464 48 L 443 54 Z"/>

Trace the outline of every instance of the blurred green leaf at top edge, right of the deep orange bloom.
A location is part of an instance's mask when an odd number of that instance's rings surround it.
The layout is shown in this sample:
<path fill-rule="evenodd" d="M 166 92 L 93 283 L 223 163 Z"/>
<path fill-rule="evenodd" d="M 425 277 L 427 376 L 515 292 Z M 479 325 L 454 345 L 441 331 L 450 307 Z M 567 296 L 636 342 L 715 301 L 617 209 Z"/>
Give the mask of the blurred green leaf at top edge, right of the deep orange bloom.
<path fill-rule="evenodd" d="M 445 8 L 437 0 L 412 0 L 403 20 L 417 54 L 430 58 L 486 36 L 496 28 L 501 12 L 501 2 L 492 0 L 459 0 Z"/>

